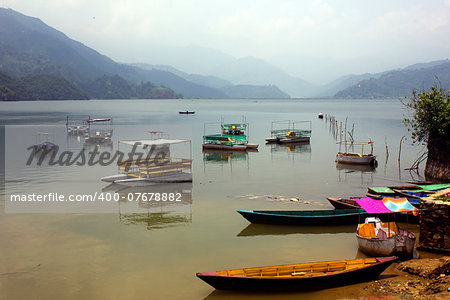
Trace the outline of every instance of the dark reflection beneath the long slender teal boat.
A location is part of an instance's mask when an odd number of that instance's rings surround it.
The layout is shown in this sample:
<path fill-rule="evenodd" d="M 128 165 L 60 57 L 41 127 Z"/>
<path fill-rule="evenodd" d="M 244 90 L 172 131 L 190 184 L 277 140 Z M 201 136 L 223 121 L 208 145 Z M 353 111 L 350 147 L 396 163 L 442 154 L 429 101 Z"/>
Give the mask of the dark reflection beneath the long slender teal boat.
<path fill-rule="evenodd" d="M 258 235 L 286 235 L 286 234 L 338 234 L 353 233 L 354 225 L 337 226 L 276 226 L 267 224 L 250 224 L 237 236 L 258 236 Z"/>

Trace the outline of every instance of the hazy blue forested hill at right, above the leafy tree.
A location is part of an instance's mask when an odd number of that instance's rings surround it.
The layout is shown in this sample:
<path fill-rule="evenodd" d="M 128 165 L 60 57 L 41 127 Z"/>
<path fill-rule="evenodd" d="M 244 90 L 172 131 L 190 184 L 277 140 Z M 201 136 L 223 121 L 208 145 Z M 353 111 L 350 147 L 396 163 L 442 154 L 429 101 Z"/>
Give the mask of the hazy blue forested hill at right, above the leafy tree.
<path fill-rule="evenodd" d="M 379 78 L 362 80 L 338 93 L 340 98 L 408 97 L 412 91 L 430 86 L 450 89 L 450 62 L 410 66 L 402 70 L 385 72 Z"/>

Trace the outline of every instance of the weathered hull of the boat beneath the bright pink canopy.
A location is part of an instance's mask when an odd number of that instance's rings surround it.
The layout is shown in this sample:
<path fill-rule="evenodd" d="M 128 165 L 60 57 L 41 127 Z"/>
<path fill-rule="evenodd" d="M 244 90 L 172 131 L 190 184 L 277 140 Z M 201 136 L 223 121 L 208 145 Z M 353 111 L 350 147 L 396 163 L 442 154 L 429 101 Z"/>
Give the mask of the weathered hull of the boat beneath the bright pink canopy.
<path fill-rule="evenodd" d="M 369 239 L 356 234 L 361 252 L 369 256 L 396 255 L 412 258 L 416 236 L 406 230 L 399 229 L 399 234 L 388 239 Z"/>

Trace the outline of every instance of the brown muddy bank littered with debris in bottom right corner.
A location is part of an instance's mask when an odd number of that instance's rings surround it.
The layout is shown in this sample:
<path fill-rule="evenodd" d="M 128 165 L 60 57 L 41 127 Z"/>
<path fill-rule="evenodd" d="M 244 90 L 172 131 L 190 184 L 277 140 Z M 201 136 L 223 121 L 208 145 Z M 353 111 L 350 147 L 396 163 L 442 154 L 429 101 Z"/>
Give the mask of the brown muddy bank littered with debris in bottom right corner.
<path fill-rule="evenodd" d="M 363 287 L 365 294 L 395 299 L 450 299 L 449 288 L 450 256 L 394 263 Z"/>

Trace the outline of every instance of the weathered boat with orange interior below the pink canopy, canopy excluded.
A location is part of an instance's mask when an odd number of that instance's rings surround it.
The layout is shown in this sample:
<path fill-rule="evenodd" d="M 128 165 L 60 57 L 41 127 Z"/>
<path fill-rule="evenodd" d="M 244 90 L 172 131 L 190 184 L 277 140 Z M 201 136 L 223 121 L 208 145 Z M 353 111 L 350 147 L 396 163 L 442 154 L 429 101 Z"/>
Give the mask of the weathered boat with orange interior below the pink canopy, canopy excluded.
<path fill-rule="evenodd" d="M 367 218 L 356 229 L 359 250 L 370 256 L 391 256 L 412 258 L 416 236 L 399 229 L 395 222 L 383 223 L 378 218 Z"/>

